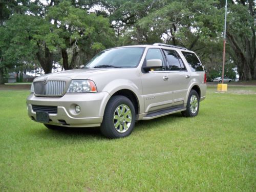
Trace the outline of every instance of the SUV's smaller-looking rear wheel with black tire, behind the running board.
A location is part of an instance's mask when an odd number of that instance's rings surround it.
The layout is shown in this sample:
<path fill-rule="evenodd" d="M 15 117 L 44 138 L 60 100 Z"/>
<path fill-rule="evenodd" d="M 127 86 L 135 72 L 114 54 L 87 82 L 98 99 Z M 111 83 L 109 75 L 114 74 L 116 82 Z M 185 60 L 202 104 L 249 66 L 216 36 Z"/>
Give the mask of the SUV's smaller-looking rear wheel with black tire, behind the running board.
<path fill-rule="evenodd" d="M 181 114 L 184 117 L 195 117 L 199 112 L 199 96 L 195 90 L 191 90 L 187 98 L 186 111 L 182 111 Z"/>

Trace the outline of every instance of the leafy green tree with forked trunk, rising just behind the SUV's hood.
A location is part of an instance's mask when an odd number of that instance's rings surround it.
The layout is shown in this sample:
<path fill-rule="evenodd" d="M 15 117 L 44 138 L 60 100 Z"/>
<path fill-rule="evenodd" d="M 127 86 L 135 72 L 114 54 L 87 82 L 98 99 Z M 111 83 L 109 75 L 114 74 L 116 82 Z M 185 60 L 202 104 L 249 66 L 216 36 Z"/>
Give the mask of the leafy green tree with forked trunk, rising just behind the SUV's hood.
<path fill-rule="evenodd" d="M 81 50 L 95 52 L 113 46 L 114 31 L 109 21 L 101 15 L 88 14 L 75 8 L 68 1 L 63 1 L 49 9 L 47 18 L 52 19 L 53 33 L 56 34 L 56 46 L 61 50 L 63 68 L 73 69 L 78 53 Z M 69 61 L 68 51 L 71 50 Z M 92 54 L 92 53 L 90 53 Z"/>

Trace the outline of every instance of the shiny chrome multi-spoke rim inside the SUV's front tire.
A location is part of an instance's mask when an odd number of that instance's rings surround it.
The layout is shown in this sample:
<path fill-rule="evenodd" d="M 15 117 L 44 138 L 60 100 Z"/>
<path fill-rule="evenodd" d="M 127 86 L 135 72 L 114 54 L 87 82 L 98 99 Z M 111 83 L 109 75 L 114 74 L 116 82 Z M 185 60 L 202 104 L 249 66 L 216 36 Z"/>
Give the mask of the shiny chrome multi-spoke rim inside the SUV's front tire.
<path fill-rule="evenodd" d="M 129 106 L 120 104 L 115 110 L 113 122 L 116 131 L 119 133 L 126 132 L 130 128 L 132 122 L 132 112 Z"/>

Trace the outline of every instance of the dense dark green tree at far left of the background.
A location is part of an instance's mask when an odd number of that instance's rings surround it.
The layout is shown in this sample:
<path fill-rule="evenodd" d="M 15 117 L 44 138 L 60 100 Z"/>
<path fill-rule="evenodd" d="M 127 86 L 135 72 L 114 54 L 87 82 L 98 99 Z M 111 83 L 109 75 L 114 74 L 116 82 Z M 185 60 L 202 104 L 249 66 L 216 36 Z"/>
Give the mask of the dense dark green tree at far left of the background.
<path fill-rule="evenodd" d="M 38 59 L 45 73 L 51 73 L 56 35 L 42 17 L 14 14 L 6 22 L 6 62 L 34 62 Z"/>

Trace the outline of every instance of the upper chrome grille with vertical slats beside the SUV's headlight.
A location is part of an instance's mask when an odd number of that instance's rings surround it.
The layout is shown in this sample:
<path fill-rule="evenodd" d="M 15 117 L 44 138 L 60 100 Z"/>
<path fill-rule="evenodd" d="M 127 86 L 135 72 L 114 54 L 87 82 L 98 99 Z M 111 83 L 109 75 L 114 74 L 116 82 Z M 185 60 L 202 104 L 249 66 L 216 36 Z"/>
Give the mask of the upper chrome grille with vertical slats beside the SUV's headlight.
<path fill-rule="evenodd" d="M 49 80 L 45 84 L 44 81 L 33 82 L 34 92 L 36 95 L 62 95 L 66 86 L 66 81 Z"/>

